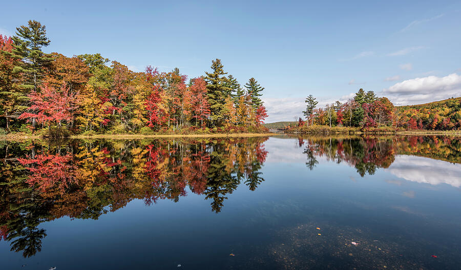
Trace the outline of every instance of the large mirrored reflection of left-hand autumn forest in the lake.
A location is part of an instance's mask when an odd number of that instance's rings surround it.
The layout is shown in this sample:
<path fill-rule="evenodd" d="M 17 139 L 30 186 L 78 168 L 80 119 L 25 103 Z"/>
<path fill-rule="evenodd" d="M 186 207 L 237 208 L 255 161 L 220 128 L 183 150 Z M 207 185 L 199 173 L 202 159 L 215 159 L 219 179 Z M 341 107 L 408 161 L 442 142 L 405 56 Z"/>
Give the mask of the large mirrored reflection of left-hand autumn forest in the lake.
<path fill-rule="evenodd" d="M 97 219 L 134 199 L 178 202 L 187 188 L 218 213 L 242 181 L 250 190 L 264 181 L 267 139 L 8 142 L 0 147 L 0 237 L 30 257 L 46 236 L 42 222 Z"/>

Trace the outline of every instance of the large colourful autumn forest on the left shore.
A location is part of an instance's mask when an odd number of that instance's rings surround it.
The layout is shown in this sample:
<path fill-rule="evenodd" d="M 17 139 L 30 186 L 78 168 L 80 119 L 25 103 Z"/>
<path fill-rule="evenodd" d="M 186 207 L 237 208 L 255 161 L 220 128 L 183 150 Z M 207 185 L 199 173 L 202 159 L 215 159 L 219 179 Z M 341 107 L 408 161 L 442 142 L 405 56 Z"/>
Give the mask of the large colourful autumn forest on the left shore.
<path fill-rule="evenodd" d="M 267 111 L 255 78 L 240 85 L 220 59 L 187 78 L 178 68 L 135 72 L 100 54 L 46 54 L 30 20 L 0 35 L 0 135 L 261 133 Z"/>

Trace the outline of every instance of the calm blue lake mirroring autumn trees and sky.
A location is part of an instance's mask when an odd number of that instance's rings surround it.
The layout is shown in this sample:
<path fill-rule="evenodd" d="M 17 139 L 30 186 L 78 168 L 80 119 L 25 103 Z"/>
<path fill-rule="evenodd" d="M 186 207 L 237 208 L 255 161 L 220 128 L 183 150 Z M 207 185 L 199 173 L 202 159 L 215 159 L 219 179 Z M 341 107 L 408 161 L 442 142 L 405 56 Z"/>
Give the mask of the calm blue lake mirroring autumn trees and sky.
<path fill-rule="evenodd" d="M 0 141 L 2 269 L 460 269 L 461 138 Z"/>

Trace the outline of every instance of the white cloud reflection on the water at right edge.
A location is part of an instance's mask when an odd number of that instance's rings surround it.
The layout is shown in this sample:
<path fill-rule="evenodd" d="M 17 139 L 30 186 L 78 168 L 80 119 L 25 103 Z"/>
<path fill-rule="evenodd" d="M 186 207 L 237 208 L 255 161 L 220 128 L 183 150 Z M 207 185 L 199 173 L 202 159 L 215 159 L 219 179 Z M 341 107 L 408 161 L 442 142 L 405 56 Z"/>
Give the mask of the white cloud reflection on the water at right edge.
<path fill-rule="evenodd" d="M 397 155 L 388 170 L 396 177 L 431 185 L 461 187 L 461 166 L 424 157 Z"/>

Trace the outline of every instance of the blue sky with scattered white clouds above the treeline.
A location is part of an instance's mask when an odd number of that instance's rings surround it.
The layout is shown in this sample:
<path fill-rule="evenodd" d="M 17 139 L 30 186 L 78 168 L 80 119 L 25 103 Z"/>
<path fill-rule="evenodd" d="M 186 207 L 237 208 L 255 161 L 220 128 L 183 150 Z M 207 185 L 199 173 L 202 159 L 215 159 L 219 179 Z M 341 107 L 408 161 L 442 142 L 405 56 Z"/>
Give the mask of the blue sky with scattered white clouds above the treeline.
<path fill-rule="evenodd" d="M 190 78 L 220 58 L 264 86 L 267 122 L 301 116 L 359 88 L 396 105 L 461 96 L 459 1 L 12 2 L 0 33 L 35 19 L 47 52 L 100 53 L 134 70 L 179 67 Z"/>

